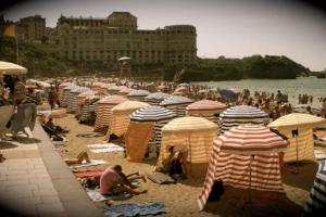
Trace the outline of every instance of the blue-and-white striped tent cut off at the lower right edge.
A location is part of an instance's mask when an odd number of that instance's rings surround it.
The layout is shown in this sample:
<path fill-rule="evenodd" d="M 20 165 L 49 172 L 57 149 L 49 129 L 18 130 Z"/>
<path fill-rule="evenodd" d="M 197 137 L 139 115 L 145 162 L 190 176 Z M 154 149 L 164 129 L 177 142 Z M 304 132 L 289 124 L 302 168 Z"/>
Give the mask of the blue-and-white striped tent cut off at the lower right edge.
<path fill-rule="evenodd" d="M 326 212 L 326 159 L 319 163 L 314 186 L 304 206 L 306 216 L 321 215 Z"/>

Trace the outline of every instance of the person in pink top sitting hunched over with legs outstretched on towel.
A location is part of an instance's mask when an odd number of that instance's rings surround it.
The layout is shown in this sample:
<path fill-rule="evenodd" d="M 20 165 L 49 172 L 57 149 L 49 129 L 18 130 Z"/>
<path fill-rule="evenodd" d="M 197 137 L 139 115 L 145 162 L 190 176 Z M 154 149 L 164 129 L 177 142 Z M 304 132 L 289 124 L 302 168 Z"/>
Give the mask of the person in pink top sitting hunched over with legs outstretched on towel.
<path fill-rule="evenodd" d="M 147 190 L 137 191 L 134 190 L 137 186 L 131 183 L 135 179 L 142 179 L 146 181 L 143 176 L 140 176 L 139 173 L 134 173 L 129 175 L 125 175 L 122 171 L 121 165 L 115 165 L 111 168 L 106 168 L 101 177 L 100 177 L 100 192 L 101 194 L 118 194 L 123 192 L 127 192 L 130 194 L 141 194 L 147 193 Z"/>

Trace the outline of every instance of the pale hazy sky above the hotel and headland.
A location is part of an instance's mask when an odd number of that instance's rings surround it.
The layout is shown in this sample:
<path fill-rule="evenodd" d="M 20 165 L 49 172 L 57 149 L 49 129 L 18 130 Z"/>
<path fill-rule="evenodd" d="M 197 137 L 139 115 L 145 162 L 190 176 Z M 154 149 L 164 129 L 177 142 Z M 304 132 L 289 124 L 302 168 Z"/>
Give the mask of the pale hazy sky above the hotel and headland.
<path fill-rule="evenodd" d="M 286 55 L 311 71 L 326 68 L 326 12 L 299 0 L 26 0 L 2 7 L 5 20 L 40 14 L 106 17 L 128 11 L 139 29 L 190 24 L 200 58 Z"/>

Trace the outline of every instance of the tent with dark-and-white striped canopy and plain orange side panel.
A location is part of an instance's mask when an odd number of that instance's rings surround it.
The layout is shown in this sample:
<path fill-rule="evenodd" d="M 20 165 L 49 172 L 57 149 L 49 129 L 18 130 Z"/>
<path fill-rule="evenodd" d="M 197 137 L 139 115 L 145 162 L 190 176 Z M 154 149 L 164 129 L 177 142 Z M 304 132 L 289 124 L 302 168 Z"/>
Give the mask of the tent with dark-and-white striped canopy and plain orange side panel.
<path fill-rule="evenodd" d="M 149 145 L 153 145 L 150 149 L 155 152 L 160 149 L 160 144 L 156 142 L 154 135 L 160 135 L 161 128 L 154 128 L 156 122 L 170 122 L 177 117 L 177 114 L 162 106 L 149 105 L 141 107 L 130 115 L 130 123 L 125 135 L 127 159 L 129 161 L 142 161 L 145 153 Z"/>

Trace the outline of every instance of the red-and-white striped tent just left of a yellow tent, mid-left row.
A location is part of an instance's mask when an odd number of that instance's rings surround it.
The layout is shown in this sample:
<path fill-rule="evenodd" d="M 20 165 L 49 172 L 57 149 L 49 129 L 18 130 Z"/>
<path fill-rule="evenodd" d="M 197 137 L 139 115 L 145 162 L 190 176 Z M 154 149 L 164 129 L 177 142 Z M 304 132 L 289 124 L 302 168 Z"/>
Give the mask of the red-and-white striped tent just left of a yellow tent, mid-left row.
<path fill-rule="evenodd" d="M 126 99 L 122 95 L 108 95 L 97 102 L 97 117 L 95 130 L 103 129 L 110 125 L 112 108 L 125 102 Z"/>

